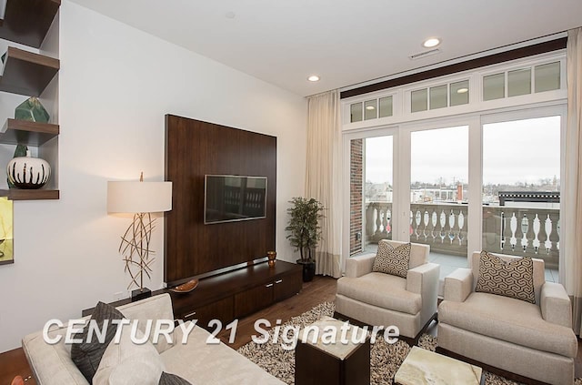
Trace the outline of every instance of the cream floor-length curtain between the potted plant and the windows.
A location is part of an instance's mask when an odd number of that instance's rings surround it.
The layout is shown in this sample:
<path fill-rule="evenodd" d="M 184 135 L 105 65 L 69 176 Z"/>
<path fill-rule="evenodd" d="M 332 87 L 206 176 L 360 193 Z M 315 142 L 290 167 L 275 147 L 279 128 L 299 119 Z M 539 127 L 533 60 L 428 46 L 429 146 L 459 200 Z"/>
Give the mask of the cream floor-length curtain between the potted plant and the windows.
<path fill-rule="evenodd" d="M 306 198 L 324 207 L 322 240 L 316 248 L 316 274 L 341 277 L 342 186 L 339 92 L 307 97 Z"/>

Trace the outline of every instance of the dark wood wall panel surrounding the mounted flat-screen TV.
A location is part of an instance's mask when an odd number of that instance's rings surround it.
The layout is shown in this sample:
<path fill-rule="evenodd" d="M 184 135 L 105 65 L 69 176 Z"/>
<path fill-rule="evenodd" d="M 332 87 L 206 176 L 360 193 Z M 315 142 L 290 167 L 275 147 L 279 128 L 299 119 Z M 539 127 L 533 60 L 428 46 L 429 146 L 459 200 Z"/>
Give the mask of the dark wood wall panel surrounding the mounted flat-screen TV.
<path fill-rule="evenodd" d="M 267 177 L 266 218 L 204 224 L 204 177 Z M 166 115 L 164 277 L 168 285 L 227 268 L 275 249 L 276 137 Z"/>

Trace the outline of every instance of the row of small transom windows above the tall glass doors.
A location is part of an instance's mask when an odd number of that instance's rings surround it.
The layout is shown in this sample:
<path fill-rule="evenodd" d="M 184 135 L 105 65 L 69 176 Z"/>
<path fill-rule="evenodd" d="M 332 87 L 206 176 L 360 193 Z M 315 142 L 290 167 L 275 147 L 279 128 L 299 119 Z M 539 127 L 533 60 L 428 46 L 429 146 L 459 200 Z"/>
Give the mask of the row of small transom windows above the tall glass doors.
<path fill-rule="evenodd" d="M 432 79 L 416 86 L 392 88 L 385 95 L 360 96 L 360 100 L 349 102 L 349 120 L 346 123 L 402 118 L 403 114 L 416 113 L 431 117 L 435 114 L 447 116 L 449 107 L 460 108 L 457 111 L 461 112 L 475 111 L 480 108 L 480 103 L 492 100 L 565 89 L 565 60 L 564 54 L 547 56 L 542 60 L 528 58 L 504 66 L 484 67 L 471 73 L 448 76 L 440 84 L 435 84 L 435 79 Z M 431 111 L 434 113 L 429 113 Z"/>

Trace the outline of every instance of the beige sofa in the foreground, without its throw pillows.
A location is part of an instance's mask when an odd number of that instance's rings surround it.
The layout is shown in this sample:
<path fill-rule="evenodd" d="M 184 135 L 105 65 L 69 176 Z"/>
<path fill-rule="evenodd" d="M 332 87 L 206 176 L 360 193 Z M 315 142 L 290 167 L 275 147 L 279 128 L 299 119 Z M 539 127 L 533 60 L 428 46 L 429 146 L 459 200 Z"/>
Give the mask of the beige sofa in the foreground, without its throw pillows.
<path fill-rule="evenodd" d="M 127 319 L 174 319 L 168 294 L 117 309 Z M 55 338 L 56 335 L 65 335 L 65 331 L 65 327 L 55 328 L 48 335 Z M 174 373 L 192 384 L 283 384 L 222 342 L 217 345 L 206 344 L 209 333 L 205 329 L 196 326 L 186 344 L 181 343 L 182 336 L 182 330 L 176 328 L 173 345 L 166 343 L 165 339 L 155 344 L 166 372 Z M 45 343 L 42 331 L 38 331 L 25 336 L 22 345 L 39 385 L 88 383 L 71 360 L 71 346 L 66 345 L 63 339 L 55 345 L 49 345 Z"/>

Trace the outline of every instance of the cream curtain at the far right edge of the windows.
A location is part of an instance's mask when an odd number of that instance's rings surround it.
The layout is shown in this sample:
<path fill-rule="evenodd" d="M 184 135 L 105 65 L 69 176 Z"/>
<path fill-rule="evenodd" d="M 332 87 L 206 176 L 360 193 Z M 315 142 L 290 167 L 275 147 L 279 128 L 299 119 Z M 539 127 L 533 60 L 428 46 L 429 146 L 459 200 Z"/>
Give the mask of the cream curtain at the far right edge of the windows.
<path fill-rule="evenodd" d="M 562 216 L 564 255 L 560 271 L 572 298 L 574 330 L 580 333 L 582 320 L 582 28 L 567 36 L 567 132 L 566 170 Z M 561 242 L 560 242 L 561 243 Z M 582 334 L 582 333 L 581 333 Z"/>

